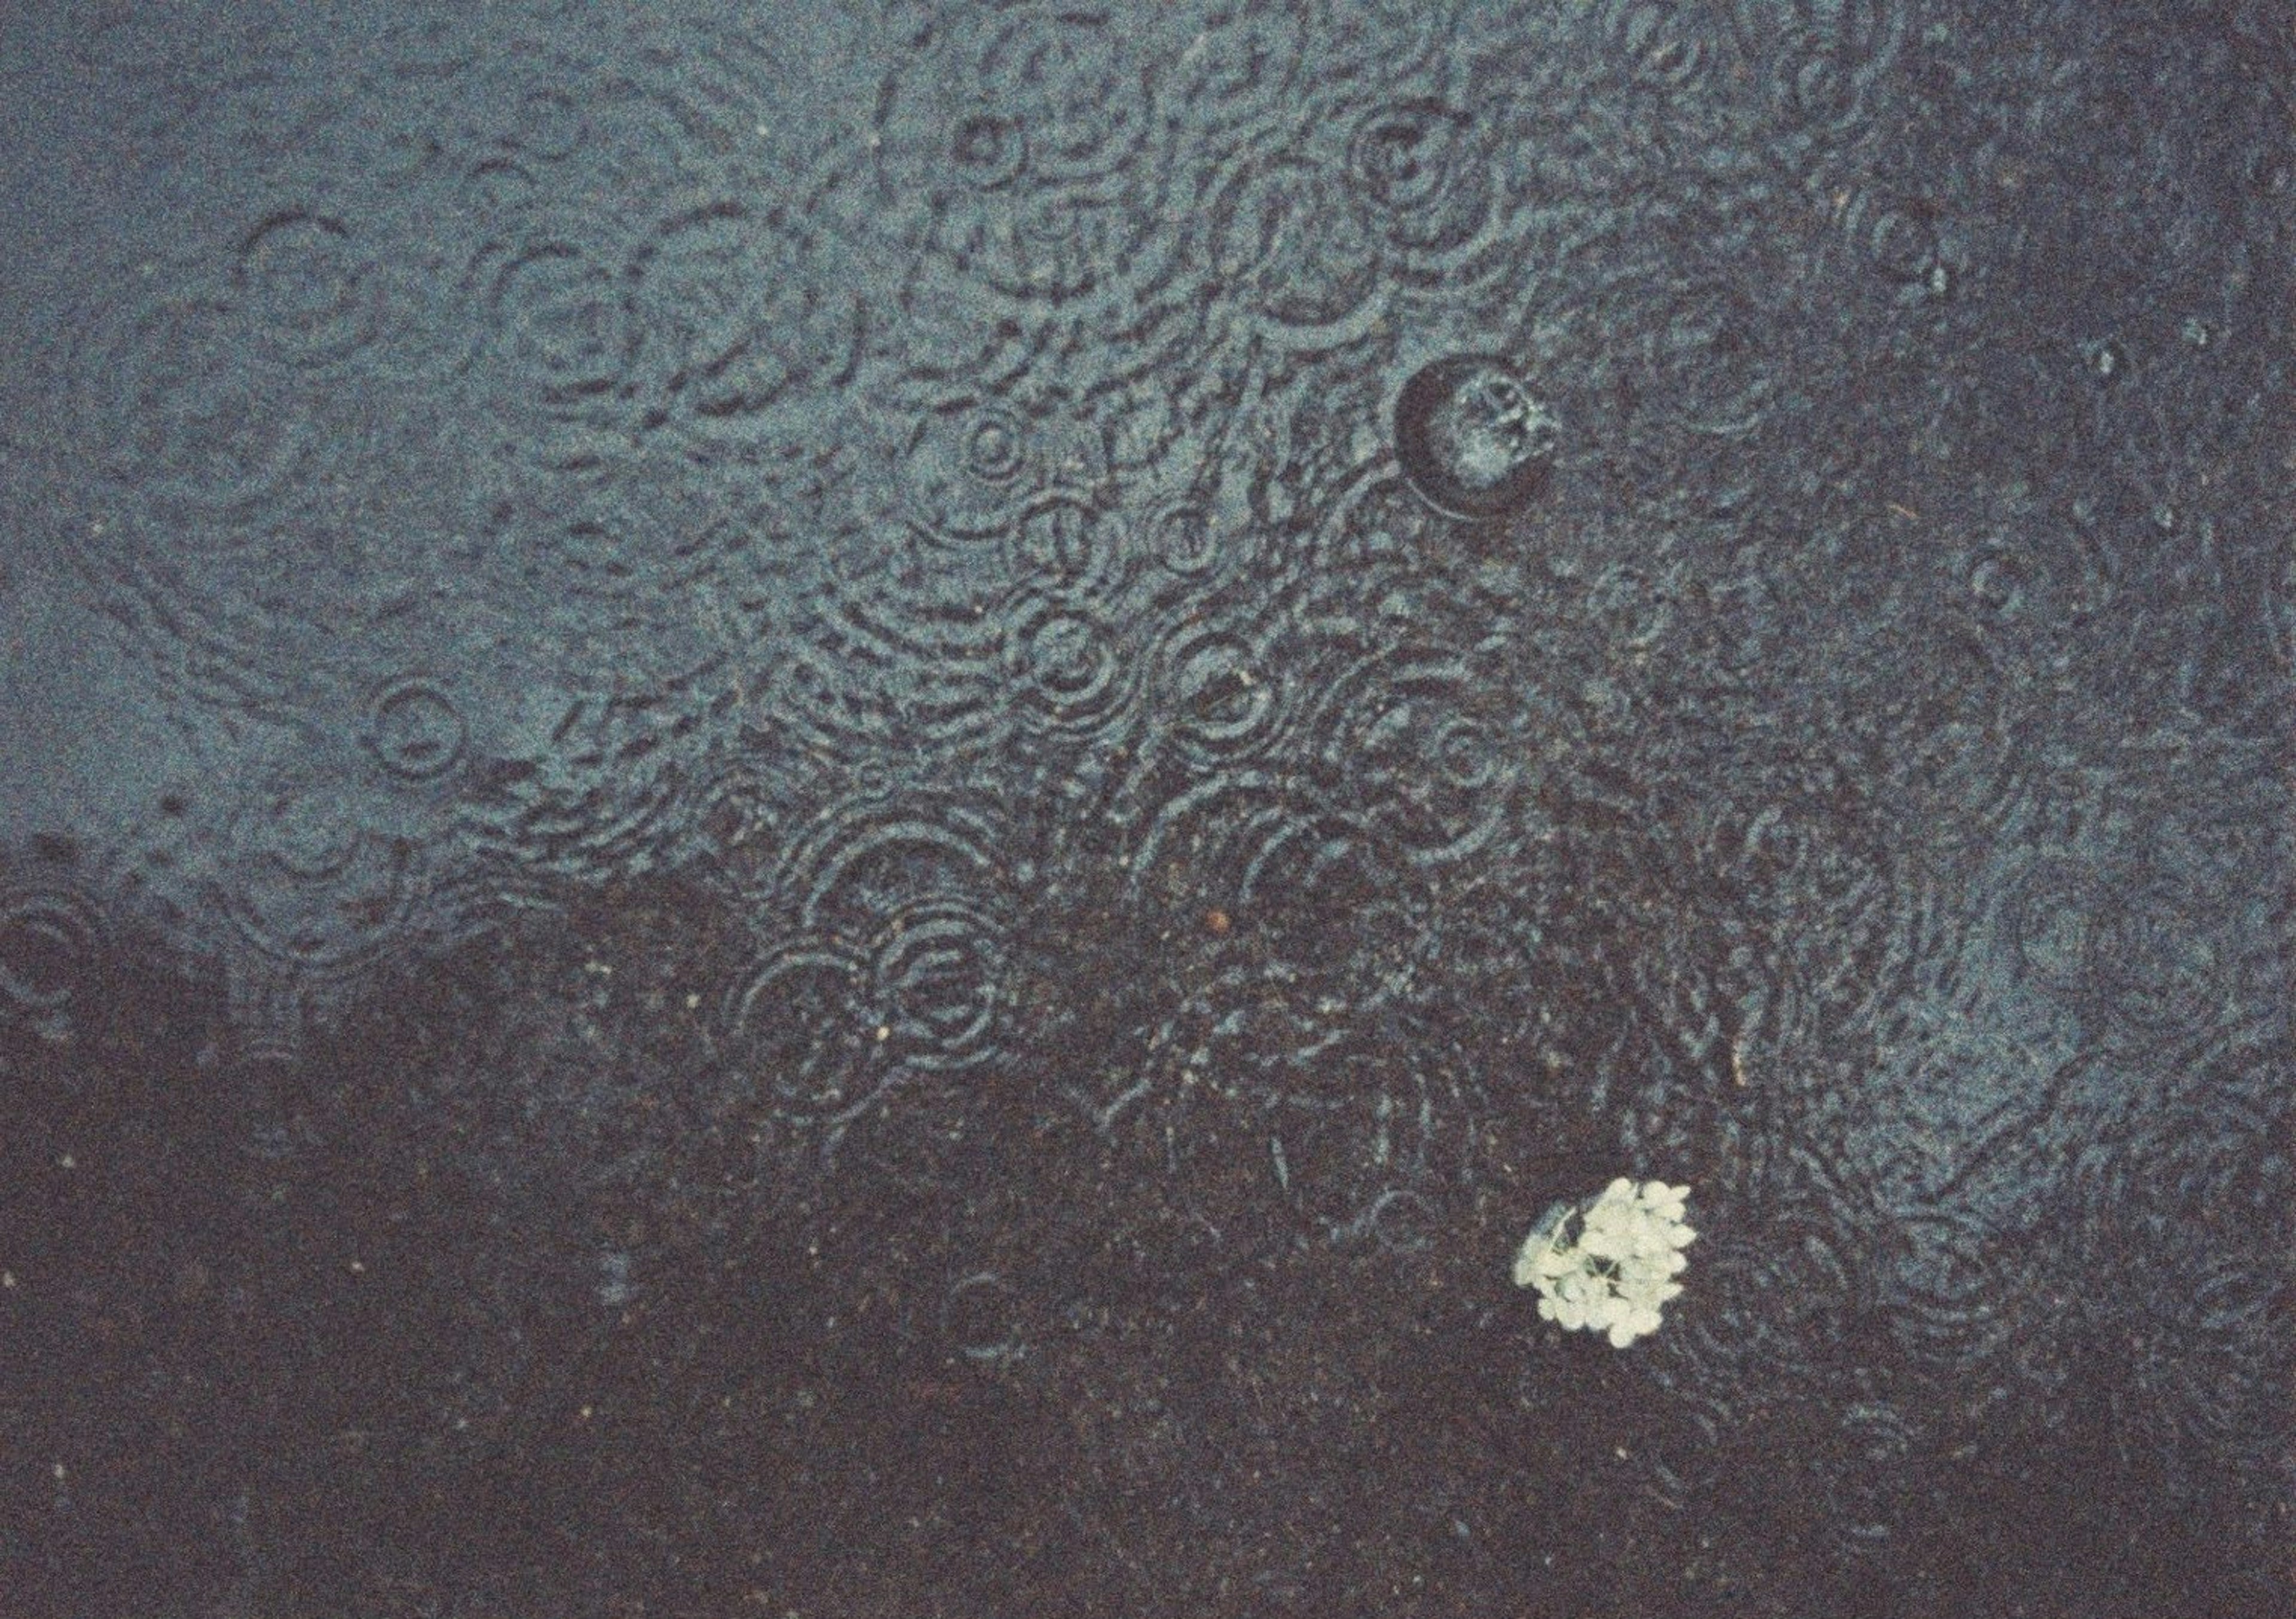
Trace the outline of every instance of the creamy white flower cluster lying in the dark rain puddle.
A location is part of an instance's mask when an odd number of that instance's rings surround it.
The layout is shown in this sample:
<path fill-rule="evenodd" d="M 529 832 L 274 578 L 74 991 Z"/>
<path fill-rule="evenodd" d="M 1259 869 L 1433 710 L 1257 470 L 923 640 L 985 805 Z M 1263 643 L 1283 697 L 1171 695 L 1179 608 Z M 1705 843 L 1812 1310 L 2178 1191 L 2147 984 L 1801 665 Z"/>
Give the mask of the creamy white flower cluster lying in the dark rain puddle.
<path fill-rule="evenodd" d="M 1619 1178 L 1584 1203 L 1557 1203 L 1515 1254 L 1515 1286 L 1538 1288 L 1538 1314 L 1564 1327 L 1609 1332 L 1626 1348 L 1658 1332 L 1658 1307 L 1683 1291 L 1690 1187 Z"/>

